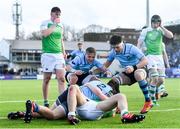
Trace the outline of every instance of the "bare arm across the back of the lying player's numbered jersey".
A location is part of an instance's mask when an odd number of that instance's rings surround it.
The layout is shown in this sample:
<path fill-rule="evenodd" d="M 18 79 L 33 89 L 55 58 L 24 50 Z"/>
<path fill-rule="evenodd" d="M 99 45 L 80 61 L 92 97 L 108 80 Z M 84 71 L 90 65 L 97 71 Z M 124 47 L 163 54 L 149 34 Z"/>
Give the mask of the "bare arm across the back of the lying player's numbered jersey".
<path fill-rule="evenodd" d="M 107 97 L 106 95 L 104 95 L 99 88 L 92 86 L 90 83 L 87 83 L 85 86 L 89 87 L 89 89 L 90 89 L 95 95 L 97 95 L 101 100 L 106 100 L 106 99 L 108 99 L 108 97 Z"/>

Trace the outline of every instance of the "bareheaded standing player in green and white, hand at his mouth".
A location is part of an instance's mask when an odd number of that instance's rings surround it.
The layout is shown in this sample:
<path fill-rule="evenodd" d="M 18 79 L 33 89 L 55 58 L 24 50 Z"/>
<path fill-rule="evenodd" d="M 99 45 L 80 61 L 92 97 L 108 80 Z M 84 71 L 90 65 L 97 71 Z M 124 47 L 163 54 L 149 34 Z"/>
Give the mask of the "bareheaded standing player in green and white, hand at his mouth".
<path fill-rule="evenodd" d="M 58 90 L 61 94 L 65 89 L 65 48 L 63 43 L 63 28 L 60 23 L 61 10 L 59 7 L 51 9 L 51 18 L 41 24 L 42 51 L 41 65 L 43 68 L 43 98 L 44 105 L 49 106 L 48 88 L 53 72 L 58 81 Z"/>

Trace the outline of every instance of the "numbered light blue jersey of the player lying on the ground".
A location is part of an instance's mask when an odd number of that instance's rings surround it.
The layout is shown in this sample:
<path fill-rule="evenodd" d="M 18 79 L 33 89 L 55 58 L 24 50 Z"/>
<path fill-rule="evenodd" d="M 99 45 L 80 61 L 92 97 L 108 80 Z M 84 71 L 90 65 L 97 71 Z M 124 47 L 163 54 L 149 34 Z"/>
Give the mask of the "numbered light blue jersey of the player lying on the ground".
<path fill-rule="evenodd" d="M 109 86 L 109 85 L 107 85 L 107 84 L 105 84 L 105 83 L 103 83 L 103 82 L 101 82 L 101 81 L 98 81 L 98 80 L 95 80 L 95 81 L 91 81 L 91 82 L 89 82 L 93 87 L 98 87 L 101 91 L 102 91 L 102 93 L 104 94 L 104 95 L 106 95 L 106 96 L 108 96 L 108 97 L 110 97 L 111 95 L 112 95 L 112 88 Z M 81 92 L 86 96 L 86 97 L 88 97 L 89 99 L 91 99 L 91 100 L 96 100 L 96 101 L 100 101 L 101 99 L 97 96 L 97 95 L 95 95 L 92 91 L 91 91 L 91 89 L 89 88 L 89 87 L 87 87 L 87 86 L 80 86 L 80 89 L 81 89 Z"/>

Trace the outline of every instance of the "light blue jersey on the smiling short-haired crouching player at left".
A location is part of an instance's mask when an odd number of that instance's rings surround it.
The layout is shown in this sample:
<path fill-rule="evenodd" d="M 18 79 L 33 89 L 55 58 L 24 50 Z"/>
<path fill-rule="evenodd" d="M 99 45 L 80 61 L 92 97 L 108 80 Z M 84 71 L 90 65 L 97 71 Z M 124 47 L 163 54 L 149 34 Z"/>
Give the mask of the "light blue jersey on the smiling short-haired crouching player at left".
<path fill-rule="evenodd" d="M 103 64 L 101 64 L 98 60 L 94 59 L 92 63 L 88 63 L 85 57 L 85 54 L 81 54 L 76 56 L 72 61 L 69 62 L 71 67 L 76 70 L 82 70 L 85 73 L 89 72 L 89 70 L 96 66 L 97 68 L 102 68 Z"/>

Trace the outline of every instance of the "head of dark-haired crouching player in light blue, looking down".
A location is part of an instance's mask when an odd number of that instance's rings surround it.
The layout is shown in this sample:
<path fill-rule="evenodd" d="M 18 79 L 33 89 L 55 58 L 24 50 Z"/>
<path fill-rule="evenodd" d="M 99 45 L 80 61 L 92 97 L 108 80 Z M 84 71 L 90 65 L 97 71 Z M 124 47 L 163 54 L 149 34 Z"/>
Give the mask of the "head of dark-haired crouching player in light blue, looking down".
<path fill-rule="evenodd" d="M 116 52 L 120 52 L 123 48 L 123 41 L 121 36 L 112 36 L 109 43 Z"/>

